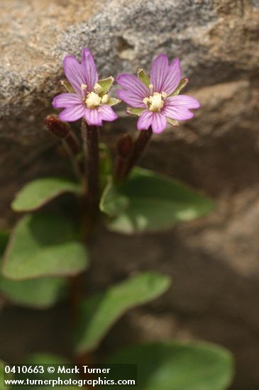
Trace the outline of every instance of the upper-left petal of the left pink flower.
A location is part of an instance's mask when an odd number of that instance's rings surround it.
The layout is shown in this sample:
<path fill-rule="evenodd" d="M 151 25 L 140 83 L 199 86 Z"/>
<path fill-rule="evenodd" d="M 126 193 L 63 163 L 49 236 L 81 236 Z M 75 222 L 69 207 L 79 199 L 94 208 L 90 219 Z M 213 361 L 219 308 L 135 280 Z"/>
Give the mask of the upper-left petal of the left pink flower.
<path fill-rule="evenodd" d="M 67 55 L 63 60 L 65 75 L 72 85 L 73 89 L 82 96 L 82 84 L 86 84 L 87 80 L 84 77 L 84 70 L 77 59 L 72 55 Z"/>

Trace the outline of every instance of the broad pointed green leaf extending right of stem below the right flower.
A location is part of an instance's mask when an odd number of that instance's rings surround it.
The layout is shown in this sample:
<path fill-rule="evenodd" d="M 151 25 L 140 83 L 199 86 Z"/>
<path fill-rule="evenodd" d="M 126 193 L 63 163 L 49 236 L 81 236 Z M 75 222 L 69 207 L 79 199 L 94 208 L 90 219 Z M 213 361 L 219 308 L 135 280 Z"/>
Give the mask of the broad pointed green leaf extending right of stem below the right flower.
<path fill-rule="evenodd" d="M 136 167 L 123 184 L 107 184 L 100 208 L 111 217 L 110 230 L 131 234 L 191 221 L 212 211 L 214 204 L 177 180 Z"/>

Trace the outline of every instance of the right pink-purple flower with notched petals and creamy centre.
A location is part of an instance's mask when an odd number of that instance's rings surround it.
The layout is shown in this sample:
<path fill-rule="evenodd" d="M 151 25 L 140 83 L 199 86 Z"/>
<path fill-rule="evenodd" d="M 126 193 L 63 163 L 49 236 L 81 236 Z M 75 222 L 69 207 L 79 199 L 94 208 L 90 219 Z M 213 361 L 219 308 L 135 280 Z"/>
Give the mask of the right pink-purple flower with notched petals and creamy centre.
<path fill-rule="evenodd" d="M 123 87 L 117 90 L 119 98 L 129 104 L 128 113 L 138 115 L 138 130 L 152 126 L 154 133 L 162 133 L 167 123 L 173 126 L 177 121 L 193 117 L 191 108 L 199 108 L 199 101 L 192 96 L 180 95 L 188 79 L 182 79 L 180 60 L 176 58 L 169 65 L 167 55 L 155 58 L 150 69 L 150 79 L 143 69 L 138 77 L 120 74 L 116 82 Z"/>

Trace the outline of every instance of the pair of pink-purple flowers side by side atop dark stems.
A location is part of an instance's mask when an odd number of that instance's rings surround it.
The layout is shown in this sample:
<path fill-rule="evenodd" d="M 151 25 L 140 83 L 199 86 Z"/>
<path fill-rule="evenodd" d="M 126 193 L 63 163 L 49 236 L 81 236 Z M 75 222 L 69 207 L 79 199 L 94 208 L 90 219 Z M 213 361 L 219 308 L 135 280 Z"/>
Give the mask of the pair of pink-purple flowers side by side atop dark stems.
<path fill-rule="evenodd" d="M 139 116 L 138 130 L 147 130 L 151 126 L 154 133 L 161 133 L 167 123 L 177 126 L 178 121 L 193 117 L 190 109 L 199 108 L 199 101 L 194 97 L 179 95 L 189 81 L 182 79 L 180 60 L 177 58 L 169 64 L 164 54 L 153 61 L 150 77 L 143 69 L 138 69 L 138 77 L 120 74 L 116 78 L 123 88 L 117 90 L 119 99 L 108 95 L 113 77 L 98 80 L 97 67 L 89 49 L 82 50 L 81 64 L 75 57 L 65 57 L 64 71 L 70 82 L 63 82 L 68 93 L 53 99 L 54 108 L 65 108 L 60 113 L 62 121 L 77 121 L 84 117 L 89 125 L 101 126 L 102 121 L 118 118 L 111 106 L 121 99 L 130 106 L 128 113 Z"/>

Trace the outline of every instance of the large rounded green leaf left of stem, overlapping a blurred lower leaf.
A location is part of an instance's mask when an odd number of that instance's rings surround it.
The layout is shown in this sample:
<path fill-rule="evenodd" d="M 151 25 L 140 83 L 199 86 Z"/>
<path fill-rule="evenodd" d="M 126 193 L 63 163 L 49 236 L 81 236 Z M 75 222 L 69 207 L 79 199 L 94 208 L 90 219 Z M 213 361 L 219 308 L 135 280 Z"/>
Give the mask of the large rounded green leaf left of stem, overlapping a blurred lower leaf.
<path fill-rule="evenodd" d="M 87 267 L 87 251 L 65 216 L 30 214 L 13 229 L 4 254 L 7 279 L 73 276 Z"/>

